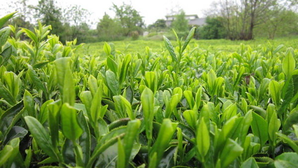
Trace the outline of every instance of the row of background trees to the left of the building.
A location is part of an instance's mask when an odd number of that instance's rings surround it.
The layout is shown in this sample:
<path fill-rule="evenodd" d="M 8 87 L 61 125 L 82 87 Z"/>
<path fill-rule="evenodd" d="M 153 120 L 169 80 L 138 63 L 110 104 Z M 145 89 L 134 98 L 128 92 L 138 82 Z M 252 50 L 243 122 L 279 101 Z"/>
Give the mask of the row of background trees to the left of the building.
<path fill-rule="evenodd" d="M 37 5 L 28 5 L 27 2 L 18 0 L 10 4 L 9 9 L 17 10 L 18 15 L 7 24 L 33 29 L 40 20 L 42 24 L 51 25 L 51 33 L 58 35 L 62 42 L 74 38 L 78 43 L 123 40 L 127 37 L 136 39 L 145 28 L 139 12 L 125 3 L 119 6 L 113 4 L 111 9 L 115 12 L 115 18 L 105 14 L 98 21 L 97 28 L 91 29 L 88 19 L 91 14 L 79 5 L 62 8 L 56 0 L 39 0 Z"/>

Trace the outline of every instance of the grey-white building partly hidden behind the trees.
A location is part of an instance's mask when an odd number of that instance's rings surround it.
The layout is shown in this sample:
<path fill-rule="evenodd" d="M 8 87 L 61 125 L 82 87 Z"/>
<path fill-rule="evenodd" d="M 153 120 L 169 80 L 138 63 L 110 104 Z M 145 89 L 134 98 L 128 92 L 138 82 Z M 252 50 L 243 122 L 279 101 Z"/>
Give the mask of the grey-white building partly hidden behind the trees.
<path fill-rule="evenodd" d="M 175 19 L 175 15 L 167 15 L 165 16 L 165 24 L 166 26 L 170 26 L 172 24 L 172 21 Z M 206 22 L 206 18 L 199 18 L 198 15 L 196 14 L 190 14 L 190 15 L 185 15 L 185 18 L 188 20 L 189 25 L 197 25 L 197 26 L 202 26 Z"/>

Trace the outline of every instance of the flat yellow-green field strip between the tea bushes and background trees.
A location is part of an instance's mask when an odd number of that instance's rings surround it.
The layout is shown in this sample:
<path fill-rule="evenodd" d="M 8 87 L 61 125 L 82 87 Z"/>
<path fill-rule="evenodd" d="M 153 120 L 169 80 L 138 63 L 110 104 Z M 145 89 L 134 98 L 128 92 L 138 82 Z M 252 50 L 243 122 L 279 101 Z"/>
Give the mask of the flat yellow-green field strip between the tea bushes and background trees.
<path fill-rule="evenodd" d="M 136 40 L 136 41 L 112 41 L 115 45 L 115 50 L 118 50 L 122 53 L 144 53 L 146 47 L 149 47 L 152 52 L 160 53 L 165 51 L 164 42 L 158 40 Z M 175 45 L 175 41 L 172 41 Z M 209 51 L 223 51 L 223 52 L 237 52 L 240 50 L 240 44 L 250 45 L 252 49 L 259 49 L 261 47 L 272 46 L 272 48 L 277 47 L 278 45 L 283 44 L 285 48 L 293 47 L 298 48 L 298 37 L 286 37 L 286 38 L 276 38 L 274 40 L 268 39 L 256 39 L 250 41 L 231 41 L 231 40 L 192 40 L 189 44 L 190 48 L 199 48 Z M 89 43 L 83 45 L 82 48 L 77 50 L 78 54 L 81 55 L 95 55 L 105 57 L 103 53 L 103 44 L 104 42 L 98 43 Z"/>

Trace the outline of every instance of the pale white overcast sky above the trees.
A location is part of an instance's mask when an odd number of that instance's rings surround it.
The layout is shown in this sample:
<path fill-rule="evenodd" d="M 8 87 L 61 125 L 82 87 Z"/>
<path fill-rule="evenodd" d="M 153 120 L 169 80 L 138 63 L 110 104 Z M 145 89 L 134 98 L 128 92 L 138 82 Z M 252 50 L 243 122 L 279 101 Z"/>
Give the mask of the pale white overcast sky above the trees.
<path fill-rule="evenodd" d="M 11 3 L 11 1 L 15 0 L 0 1 Z M 204 17 L 204 10 L 210 8 L 210 4 L 213 1 L 218 0 L 57 0 L 61 7 L 78 4 L 89 10 L 91 13 L 90 19 L 93 22 L 98 22 L 104 15 L 104 12 L 114 16 L 114 11 L 110 10 L 112 4 L 121 5 L 122 2 L 125 2 L 126 4 L 131 4 L 140 12 L 141 16 L 144 16 L 147 25 L 152 24 L 157 19 L 165 19 L 165 15 L 171 13 L 171 10 L 177 10 L 177 8 L 182 8 L 186 14 L 198 14 L 199 17 Z M 35 5 L 38 3 L 38 0 L 28 0 L 28 3 Z"/>

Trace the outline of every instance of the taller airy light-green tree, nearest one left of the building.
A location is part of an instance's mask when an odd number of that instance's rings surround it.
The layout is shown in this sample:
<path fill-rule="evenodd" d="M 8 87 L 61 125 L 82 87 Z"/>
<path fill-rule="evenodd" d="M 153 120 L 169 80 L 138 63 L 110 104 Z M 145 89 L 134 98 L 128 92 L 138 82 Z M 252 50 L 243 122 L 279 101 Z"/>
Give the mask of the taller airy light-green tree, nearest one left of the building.
<path fill-rule="evenodd" d="M 112 9 L 116 13 L 116 18 L 120 20 L 125 36 L 128 36 L 133 31 L 142 31 L 144 26 L 143 17 L 131 5 L 123 4 L 117 6 L 113 4 Z"/>

